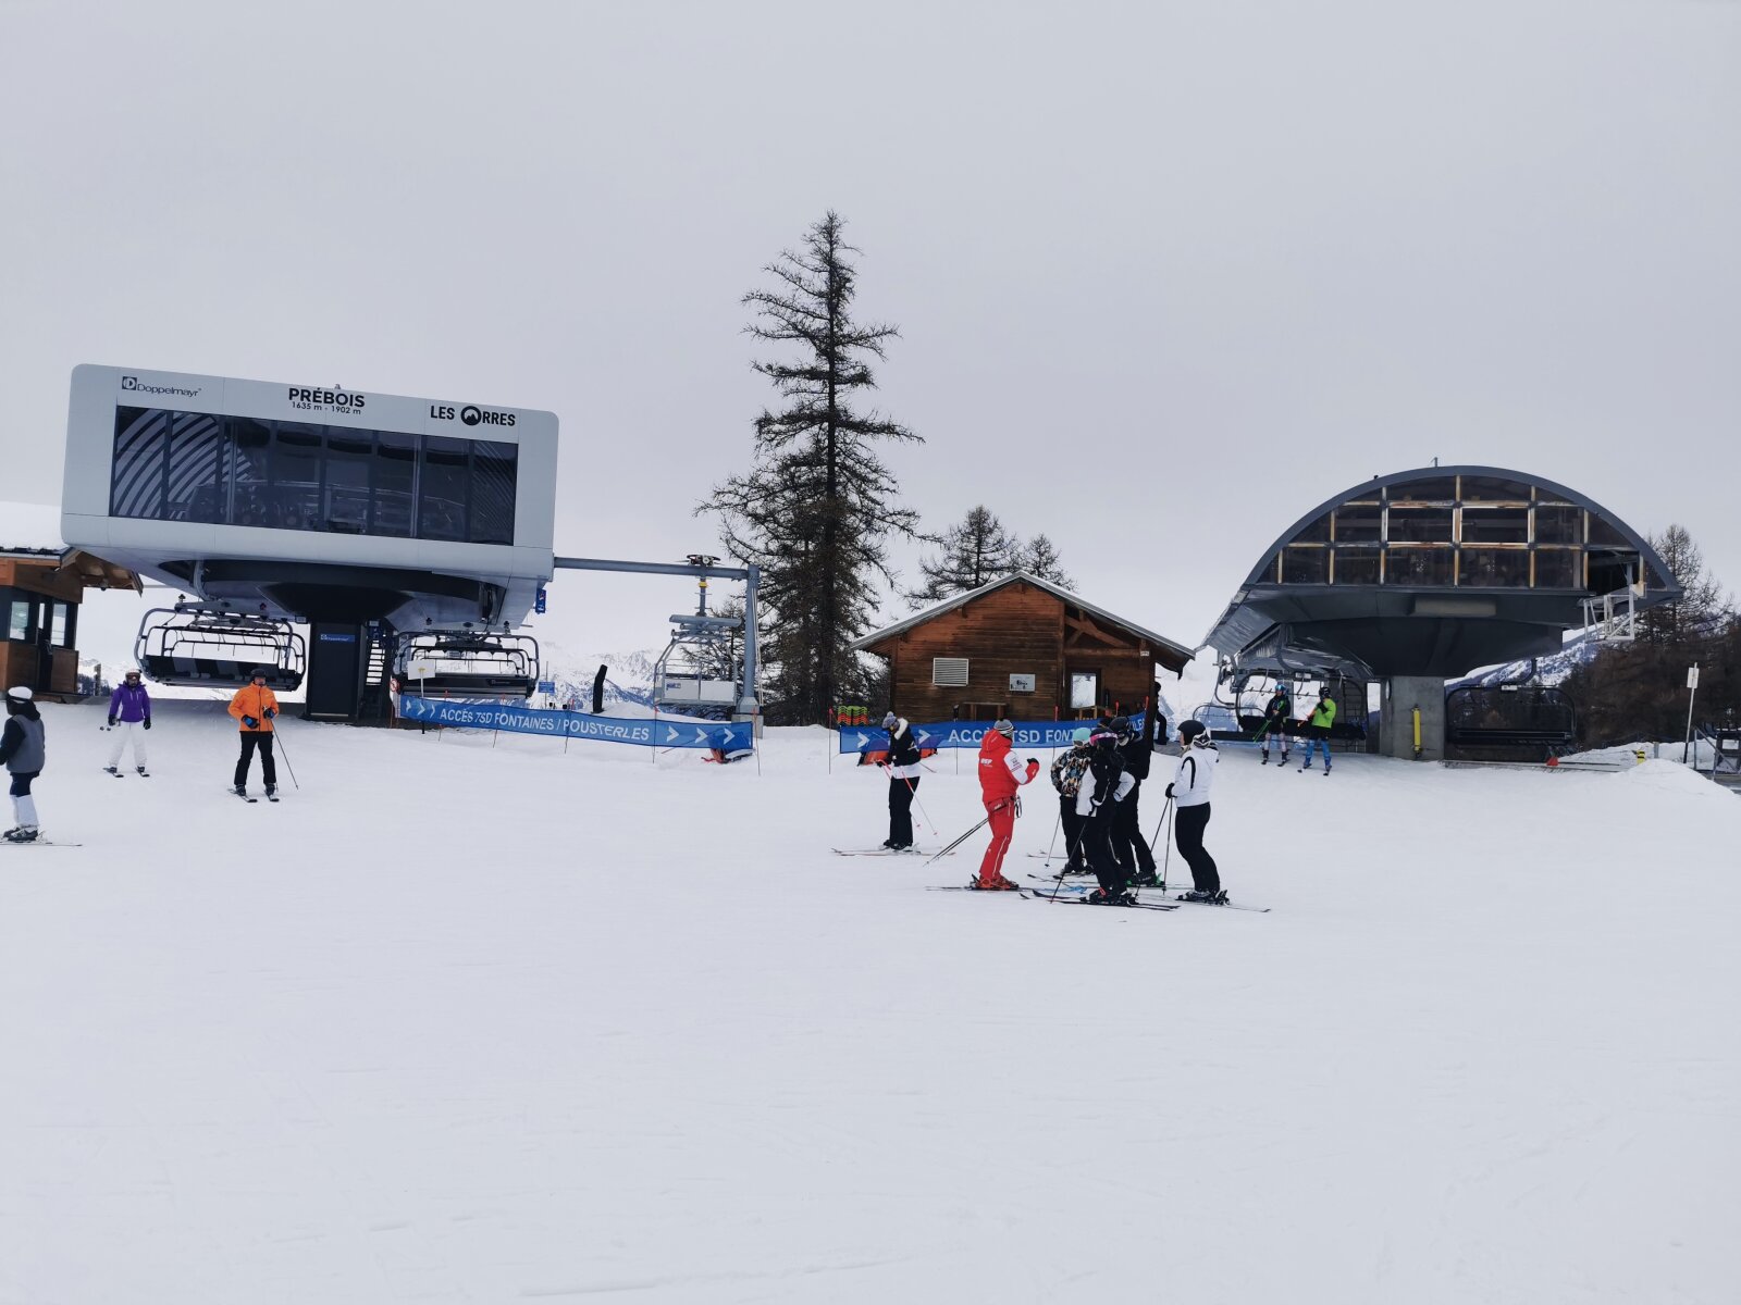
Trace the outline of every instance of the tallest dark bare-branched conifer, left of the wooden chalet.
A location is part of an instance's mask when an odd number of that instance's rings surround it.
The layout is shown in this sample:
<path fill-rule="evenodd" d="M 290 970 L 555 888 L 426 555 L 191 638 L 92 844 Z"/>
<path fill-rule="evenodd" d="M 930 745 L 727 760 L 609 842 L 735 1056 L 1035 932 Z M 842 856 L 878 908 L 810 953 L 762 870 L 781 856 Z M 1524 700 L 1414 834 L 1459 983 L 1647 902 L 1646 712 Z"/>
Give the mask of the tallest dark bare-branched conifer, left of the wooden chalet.
<path fill-rule="evenodd" d="M 756 310 L 749 334 L 796 346 L 796 357 L 754 364 L 782 407 L 756 419 L 752 468 L 696 508 L 719 517 L 731 557 L 763 571 L 763 684 L 775 724 L 820 724 L 843 694 L 862 694 L 865 672 L 848 646 L 870 626 L 874 583 L 895 583 L 886 541 L 921 538 L 876 454 L 881 440 L 919 437 L 858 400 L 876 388 L 869 360 L 886 358 L 900 332 L 853 320 L 858 251 L 843 231 L 827 212 L 799 251 L 768 264 L 775 287 L 743 296 Z"/>

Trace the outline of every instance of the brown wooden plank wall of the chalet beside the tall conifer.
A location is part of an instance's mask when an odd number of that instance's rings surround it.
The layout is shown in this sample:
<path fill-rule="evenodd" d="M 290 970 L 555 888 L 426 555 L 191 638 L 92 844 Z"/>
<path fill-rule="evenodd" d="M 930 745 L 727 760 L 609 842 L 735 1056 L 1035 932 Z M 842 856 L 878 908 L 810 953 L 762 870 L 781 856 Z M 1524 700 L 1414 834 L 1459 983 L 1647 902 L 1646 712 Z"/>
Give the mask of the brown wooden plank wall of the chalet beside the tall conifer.
<path fill-rule="evenodd" d="M 1097 672 L 1100 701 L 1137 712 L 1153 693 L 1154 649 L 1133 632 L 1088 616 L 1055 593 L 1015 581 L 869 649 L 890 659 L 893 710 L 909 720 L 1067 720 L 1071 673 Z M 933 658 L 966 658 L 968 684 L 931 684 Z M 1034 693 L 1012 693 L 1032 675 Z"/>

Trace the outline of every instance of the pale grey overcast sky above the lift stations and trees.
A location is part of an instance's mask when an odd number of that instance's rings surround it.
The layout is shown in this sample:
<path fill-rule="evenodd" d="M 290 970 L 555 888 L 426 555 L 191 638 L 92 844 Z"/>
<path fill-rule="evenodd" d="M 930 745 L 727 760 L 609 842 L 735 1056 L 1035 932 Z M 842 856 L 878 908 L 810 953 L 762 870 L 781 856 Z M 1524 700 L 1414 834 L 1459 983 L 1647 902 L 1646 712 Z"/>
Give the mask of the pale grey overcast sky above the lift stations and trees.
<path fill-rule="evenodd" d="M 0 0 L 0 499 L 59 501 L 103 362 L 552 409 L 559 553 L 712 550 L 740 298 L 834 207 L 907 501 L 1180 642 L 1433 458 L 1741 586 L 1734 0 Z M 629 649 L 689 592 L 550 602 Z"/>

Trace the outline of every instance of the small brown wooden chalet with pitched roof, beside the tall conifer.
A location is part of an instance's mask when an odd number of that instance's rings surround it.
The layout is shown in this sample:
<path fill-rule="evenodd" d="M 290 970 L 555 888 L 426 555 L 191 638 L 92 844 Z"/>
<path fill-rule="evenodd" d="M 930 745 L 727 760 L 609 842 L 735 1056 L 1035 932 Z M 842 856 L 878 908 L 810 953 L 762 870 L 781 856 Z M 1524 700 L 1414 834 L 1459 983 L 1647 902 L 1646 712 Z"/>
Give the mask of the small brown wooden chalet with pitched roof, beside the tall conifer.
<path fill-rule="evenodd" d="M 1086 720 L 1139 712 L 1193 651 L 1025 571 L 865 635 L 909 720 Z"/>

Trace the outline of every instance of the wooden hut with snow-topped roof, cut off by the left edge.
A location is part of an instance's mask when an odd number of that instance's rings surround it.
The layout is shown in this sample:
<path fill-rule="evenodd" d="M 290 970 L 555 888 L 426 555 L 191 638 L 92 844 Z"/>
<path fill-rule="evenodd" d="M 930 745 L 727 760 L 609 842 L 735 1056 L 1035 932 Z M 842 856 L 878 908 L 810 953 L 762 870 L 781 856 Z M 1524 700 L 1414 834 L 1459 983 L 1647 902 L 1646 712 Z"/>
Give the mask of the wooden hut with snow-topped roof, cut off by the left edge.
<path fill-rule="evenodd" d="M 52 519 L 52 525 L 49 520 Z M 0 687 L 78 694 L 78 604 L 87 588 L 143 592 L 139 576 L 59 539 L 59 512 L 0 503 Z M 52 545 L 52 546 L 50 546 Z"/>

